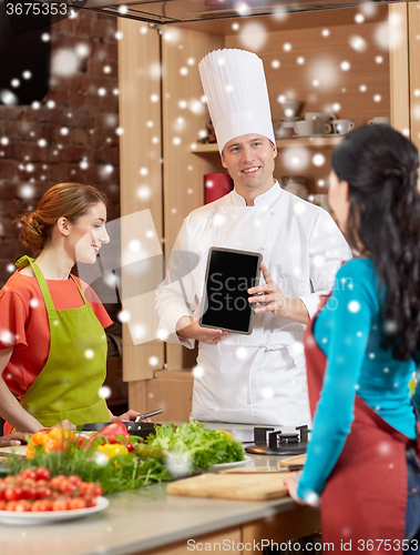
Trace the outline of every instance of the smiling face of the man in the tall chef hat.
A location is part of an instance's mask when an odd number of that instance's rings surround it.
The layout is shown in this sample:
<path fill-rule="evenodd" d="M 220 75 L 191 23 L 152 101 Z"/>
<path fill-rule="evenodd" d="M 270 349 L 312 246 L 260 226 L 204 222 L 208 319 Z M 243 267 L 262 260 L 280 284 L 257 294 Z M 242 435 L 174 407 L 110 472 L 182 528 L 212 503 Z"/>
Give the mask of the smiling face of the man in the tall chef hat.
<path fill-rule="evenodd" d="M 266 137 L 246 134 L 226 143 L 222 153 L 222 165 L 234 180 L 235 189 L 246 196 L 262 194 L 273 186 L 276 145 Z"/>

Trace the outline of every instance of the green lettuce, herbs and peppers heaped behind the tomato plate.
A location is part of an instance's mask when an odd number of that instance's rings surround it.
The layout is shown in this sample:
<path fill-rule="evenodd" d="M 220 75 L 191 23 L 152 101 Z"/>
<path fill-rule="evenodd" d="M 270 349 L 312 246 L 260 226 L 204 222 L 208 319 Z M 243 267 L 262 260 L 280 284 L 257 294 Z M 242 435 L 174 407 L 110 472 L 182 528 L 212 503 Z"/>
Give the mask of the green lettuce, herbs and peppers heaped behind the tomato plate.
<path fill-rule="evenodd" d="M 177 428 L 173 424 L 156 425 L 155 430 L 156 435 L 145 441 L 131 436 L 121 422 L 91 437 L 61 428 L 43 430 L 29 437 L 27 460 L 6 460 L 6 472 L 18 476 L 25 468 L 45 467 L 54 477 L 76 475 L 83 482 L 95 482 L 107 494 L 244 460 L 240 443 L 231 434 L 208 430 L 198 422 Z"/>

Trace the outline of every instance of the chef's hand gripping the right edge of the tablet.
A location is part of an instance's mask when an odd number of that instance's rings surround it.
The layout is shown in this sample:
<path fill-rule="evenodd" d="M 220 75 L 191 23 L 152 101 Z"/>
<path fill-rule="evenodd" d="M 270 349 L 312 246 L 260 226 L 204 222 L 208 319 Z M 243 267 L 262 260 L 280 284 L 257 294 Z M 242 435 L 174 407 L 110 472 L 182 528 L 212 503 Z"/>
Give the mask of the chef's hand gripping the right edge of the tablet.
<path fill-rule="evenodd" d="M 263 262 L 260 268 L 265 283 L 248 289 L 248 293 L 255 295 L 248 301 L 262 304 L 255 309 L 255 313 L 272 312 L 274 316 L 288 317 L 300 324 L 307 324 L 309 314 L 304 301 L 299 297 L 286 299 Z"/>

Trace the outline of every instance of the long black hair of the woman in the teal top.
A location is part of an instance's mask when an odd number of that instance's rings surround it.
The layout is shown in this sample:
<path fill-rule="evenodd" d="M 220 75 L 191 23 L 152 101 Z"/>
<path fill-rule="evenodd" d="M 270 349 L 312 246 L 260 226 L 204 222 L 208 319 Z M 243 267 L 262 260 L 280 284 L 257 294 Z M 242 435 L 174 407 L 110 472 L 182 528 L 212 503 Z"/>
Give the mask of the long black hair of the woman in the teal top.
<path fill-rule="evenodd" d="M 331 158 L 349 184 L 347 238 L 362 244 L 379 278 L 382 349 L 400 361 L 420 349 L 420 195 L 416 147 L 389 125 L 363 125 Z"/>

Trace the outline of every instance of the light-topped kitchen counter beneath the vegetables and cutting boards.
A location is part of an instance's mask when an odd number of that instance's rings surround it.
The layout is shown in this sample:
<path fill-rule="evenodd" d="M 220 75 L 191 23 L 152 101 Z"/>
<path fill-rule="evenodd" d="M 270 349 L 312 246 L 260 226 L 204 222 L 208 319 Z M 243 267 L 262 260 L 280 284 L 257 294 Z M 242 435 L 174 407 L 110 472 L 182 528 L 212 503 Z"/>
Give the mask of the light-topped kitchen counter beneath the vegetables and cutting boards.
<path fill-rule="evenodd" d="M 232 424 L 206 425 L 239 428 Z M 240 430 L 249 427 L 240 426 Z M 279 458 L 252 455 L 247 464 L 277 467 Z M 79 521 L 40 526 L 0 525 L 1 555 L 129 555 L 140 552 L 181 555 L 194 551 L 192 544 L 188 549 L 186 543 L 193 538 L 202 543 L 229 539 L 237 544 L 272 536 L 283 542 L 319 529 L 318 512 L 296 507 L 289 497 L 265 502 L 180 497 L 166 495 L 166 484 L 154 484 L 111 494 L 109 498 L 109 508 Z M 231 549 L 231 553 L 243 551 Z"/>

